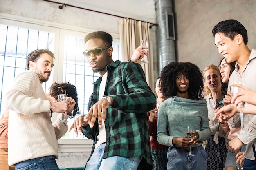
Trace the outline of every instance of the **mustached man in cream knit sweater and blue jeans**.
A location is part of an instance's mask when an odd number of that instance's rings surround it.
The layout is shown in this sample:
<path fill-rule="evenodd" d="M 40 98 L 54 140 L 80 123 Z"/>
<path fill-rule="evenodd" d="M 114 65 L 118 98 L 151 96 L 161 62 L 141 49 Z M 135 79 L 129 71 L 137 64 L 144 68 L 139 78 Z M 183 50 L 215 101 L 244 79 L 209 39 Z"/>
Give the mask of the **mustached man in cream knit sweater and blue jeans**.
<path fill-rule="evenodd" d="M 34 50 L 27 56 L 27 71 L 16 75 L 5 96 L 9 110 L 8 163 L 16 169 L 58 170 L 57 139 L 67 131 L 66 123 L 54 124 L 50 113 L 67 114 L 74 108 L 74 99 L 47 100 L 42 83 L 51 74 L 54 54 L 48 49 Z"/>

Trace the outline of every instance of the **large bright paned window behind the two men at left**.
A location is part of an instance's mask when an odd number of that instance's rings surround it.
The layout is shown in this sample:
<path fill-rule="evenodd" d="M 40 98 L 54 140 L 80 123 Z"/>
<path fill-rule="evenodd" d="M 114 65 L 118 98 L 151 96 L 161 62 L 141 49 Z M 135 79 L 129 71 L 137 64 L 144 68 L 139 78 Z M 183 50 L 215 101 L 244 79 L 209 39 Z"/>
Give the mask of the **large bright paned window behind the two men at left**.
<path fill-rule="evenodd" d="M 20 26 L 21 25 L 21 26 Z M 8 90 L 9 82 L 20 71 L 26 69 L 26 57 L 35 49 L 49 48 L 55 54 L 54 68 L 50 79 L 42 84 L 46 93 L 52 82 L 70 82 L 78 92 L 78 104 L 81 114 L 87 113 L 89 97 L 93 91 L 92 83 L 100 76 L 94 73 L 83 55 L 84 37 L 87 33 L 48 26 L 24 24 L 12 21 L 11 25 L 0 23 L 0 110 L 4 111 L 2 98 Z M 113 60 L 121 60 L 119 40 L 113 38 Z M 2 73 L 2 74 L 1 74 Z M 59 114 L 59 113 L 57 113 Z M 52 116 L 52 121 L 57 114 Z M 73 119 L 68 119 L 69 127 Z M 90 151 L 92 141 L 83 135 L 76 137 L 74 131 L 67 132 L 58 140 L 59 152 Z M 81 147 L 87 148 L 81 150 Z M 80 148 L 79 148 L 80 147 Z"/>

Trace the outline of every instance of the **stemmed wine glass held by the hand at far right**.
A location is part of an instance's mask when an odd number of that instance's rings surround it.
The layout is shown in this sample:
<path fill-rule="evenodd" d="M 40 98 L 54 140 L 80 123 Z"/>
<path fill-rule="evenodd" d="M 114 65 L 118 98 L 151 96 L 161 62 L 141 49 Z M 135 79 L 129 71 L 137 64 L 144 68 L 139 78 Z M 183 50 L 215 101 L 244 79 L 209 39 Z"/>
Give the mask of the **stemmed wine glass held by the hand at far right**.
<path fill-rule="evenodd" d="M 239 82 L 239 84 L 241 84 L 241 83 Z M 233 93 L 233 96 L 236 95 L 236 93 L 238 93 L 240 91 L 242 91 L 241 88 L 235 87 L 235 86 L 231 86 L 231 92 Z M 235 133 L 235 135 L 237 135 L 237 134 L 249 134 L 249 132 L 245 132 L 244 131 L 244 124 L 243 124 L 243 115 L 244 115 L 243 114 L 243 108 L 245 108 L 245 106 L 246 106 L 246 102 L 240 102 L 237 105 L 237 108 L 240 110 L 241 130 L 240 130 L 240 132 Z"/>

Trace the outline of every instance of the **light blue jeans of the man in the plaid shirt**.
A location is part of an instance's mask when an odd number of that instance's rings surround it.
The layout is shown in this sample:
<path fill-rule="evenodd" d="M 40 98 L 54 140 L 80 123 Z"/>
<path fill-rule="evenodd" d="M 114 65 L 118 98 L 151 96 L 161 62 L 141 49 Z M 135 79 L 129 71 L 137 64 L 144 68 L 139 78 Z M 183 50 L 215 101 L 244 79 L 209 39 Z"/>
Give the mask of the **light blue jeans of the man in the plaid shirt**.
<path fill-rule="evenodd" d="M 106 143 L 94 149 L 85 170 L 137 170 L 141 157 L 112 156 L 103 159 Z"/>

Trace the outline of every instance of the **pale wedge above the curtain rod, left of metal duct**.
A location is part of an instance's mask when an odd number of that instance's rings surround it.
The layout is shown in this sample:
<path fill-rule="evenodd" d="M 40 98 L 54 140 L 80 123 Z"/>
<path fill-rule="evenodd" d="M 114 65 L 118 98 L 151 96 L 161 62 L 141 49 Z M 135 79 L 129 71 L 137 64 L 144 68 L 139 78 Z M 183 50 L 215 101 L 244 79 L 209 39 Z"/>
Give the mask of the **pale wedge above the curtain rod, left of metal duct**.
<path fill-rule="evenodd" d="M 53 0 L 125 18 L 155 23 L 154 0 Z"/>

